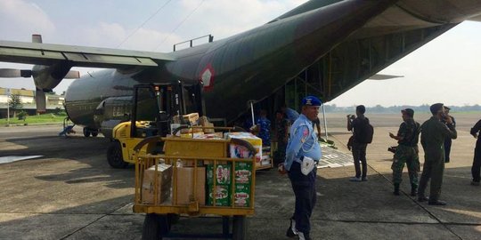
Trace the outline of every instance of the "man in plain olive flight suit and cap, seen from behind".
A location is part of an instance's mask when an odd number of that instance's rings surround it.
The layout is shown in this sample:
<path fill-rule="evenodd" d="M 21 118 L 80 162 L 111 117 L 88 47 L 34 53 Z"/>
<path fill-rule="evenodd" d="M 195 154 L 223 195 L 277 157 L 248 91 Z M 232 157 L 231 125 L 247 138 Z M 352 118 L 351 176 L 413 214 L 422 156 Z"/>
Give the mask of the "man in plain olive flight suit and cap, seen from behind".
<path fill-rule="evenodd" d="M 439 200 L 444 174 L 444 139 L 456 139 L 458 132 L 452 124 L 452 119 L 444 113 L 443 103 L 436 103 L 429 107 L 433 114 L 421 125 L 421 145 L 424 149 L 424 165 L 420 177 L 418 201 L 427 201 L 430 205 L 445 205 Z M 441 122 L 444 119 L 446 124 Z M 431 180 L 429 198 L 424 196 L 424 191 Z"/>

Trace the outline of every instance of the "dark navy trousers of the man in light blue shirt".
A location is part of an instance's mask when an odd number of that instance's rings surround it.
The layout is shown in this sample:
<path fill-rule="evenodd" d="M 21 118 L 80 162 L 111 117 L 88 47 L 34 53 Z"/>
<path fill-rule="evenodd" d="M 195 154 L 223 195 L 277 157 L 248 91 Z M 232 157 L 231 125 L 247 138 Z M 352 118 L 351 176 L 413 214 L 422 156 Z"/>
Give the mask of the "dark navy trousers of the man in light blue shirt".
<path fill-rule="evenodd" d="M 299 232 L 308 234 L 311 231 L 311 214 L 313 213 L 316 194 L 315 194 L 315 176 L 317 168 L 304 175 L 300 171 L 300 164 L 294 162 L 290 166 L 289 180 L 296 196 L 296 208 L 292 216 L 296 220 L 296 228 Z"/>

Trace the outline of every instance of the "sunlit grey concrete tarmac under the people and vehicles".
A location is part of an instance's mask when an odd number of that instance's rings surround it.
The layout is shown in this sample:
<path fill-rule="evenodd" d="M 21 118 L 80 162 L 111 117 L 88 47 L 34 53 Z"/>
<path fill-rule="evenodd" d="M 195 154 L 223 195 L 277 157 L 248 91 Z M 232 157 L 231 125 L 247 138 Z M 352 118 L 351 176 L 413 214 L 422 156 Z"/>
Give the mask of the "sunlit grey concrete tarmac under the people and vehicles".
<path fill-rule="evenodd" d="M 401 116 L 367 116 L 375 126 L 367 150 L 369 180 L 350 182 L 353 166 L 318 171 L 313 239 L 480 239 L 481 188 L 469 185 L 475 145 L 469 128 L 478 116 L 456 116 L 459 137 L 445 166 L 445 206 L 409 196 L 407 173 L 402 195 L 392 194 L 387 147 L 395 140 L 388 132 L 397 131 Z M 422 123 L 428 116 L 415 118 Z M 330 140 L 348 153 L 346 115 L 327 120 Z M 0 239 L 141 239 L 143 214 L 132 212 L 134 168 L 110 168 L 105 157 L 109 140 L 78 133 L 59 137 L 58 132 L 61 125 L 0 128 L 0 157 L 42 156 L 0 164 Z M 293 207 L 286 176 L 257 172 L 256 214 L 248 219 L 248 239 L 288 239 Z M 220 218 L 181 218 L 174 231 L 221 233 L 222 225 Z"/>

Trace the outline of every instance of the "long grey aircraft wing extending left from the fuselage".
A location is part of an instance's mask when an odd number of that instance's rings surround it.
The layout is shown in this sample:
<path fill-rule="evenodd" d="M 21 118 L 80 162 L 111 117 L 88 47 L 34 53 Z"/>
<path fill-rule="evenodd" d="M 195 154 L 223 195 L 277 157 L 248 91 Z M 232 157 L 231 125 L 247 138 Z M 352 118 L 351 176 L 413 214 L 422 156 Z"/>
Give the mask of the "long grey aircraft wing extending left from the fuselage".
<path fill-rule="evenodd" d="M 175 60 L 167 53 L 61 44 L 0 41 L 0 61 L 51 66 L 67 61 L 72 67 L 157 67 Z"/>

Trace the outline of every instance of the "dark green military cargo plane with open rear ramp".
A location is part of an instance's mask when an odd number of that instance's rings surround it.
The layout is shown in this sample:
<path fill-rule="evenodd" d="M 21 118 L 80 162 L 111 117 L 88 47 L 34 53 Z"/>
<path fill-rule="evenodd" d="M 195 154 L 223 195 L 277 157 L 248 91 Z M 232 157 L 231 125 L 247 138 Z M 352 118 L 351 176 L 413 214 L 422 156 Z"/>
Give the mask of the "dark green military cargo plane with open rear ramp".
<path fill-rule="evenodd" d="M 0 41 L 0 61 L 37 65 L 38 106 L 45 106 L 41 92 L 75 74 L 70 68 L 110 68 L 80 77 L 66 92 L 69 118 L 86 136 L 129 113 L 135 84 L 201 83 L 206 116 L 229 123 L 248 102 L 297 108 L 306 94 L 332 100 L 480 14 L 474 0 L 312 0 L 258 28 L 174 52 Z M 23 73 L 0 76 L 29 76 Z"/>

